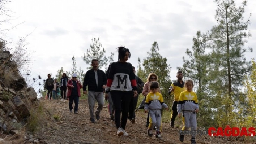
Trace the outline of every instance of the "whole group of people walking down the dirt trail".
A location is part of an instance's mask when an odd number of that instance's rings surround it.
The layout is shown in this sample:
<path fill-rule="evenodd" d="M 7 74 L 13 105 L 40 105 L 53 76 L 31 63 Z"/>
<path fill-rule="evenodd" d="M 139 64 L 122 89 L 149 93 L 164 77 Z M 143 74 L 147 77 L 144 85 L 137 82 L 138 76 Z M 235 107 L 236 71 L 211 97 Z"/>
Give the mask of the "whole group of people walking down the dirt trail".
<path fill-rule="evenodd" d="M 106 71 L 98 69 L 99 61 L 93 59 L 91 61 L 92 69 L 85 74 L 84 81 L 78 81 L 77 75 L 72 74 L 72 79 L 63 73 L 60 89 L 61 97 L 69 99 L 69 110 L 73 110 L 73 101 L 75 103 L 74 113 L 78 114 L 79 97 L 81 97 L 80 89 L 83 88 L 83 93 L 88 96 L 88 105 L 90 111 L 90 121 L 95 123 L 100 119 L 100 114 L 104 105 L 104 98 L 108 100 L 108 112 L 110 120 L 115 121 L 117 135 L 129 136 L 125 131 L 127 119 L 135 123 L 135 109 L 138 102 L 138 95 L 142 93 L 145 96 L 144 112 L 148 113 L 146 119 L 147 134 L 149 137 L 153 136 L 153 129 L 156 139 L 162 139 L 162 112 L 164 108 L 168 110 L 168 106 L 163 101 L 158 77 L 155 73 L 150 73 L 147 82 L 144 84 L 142 80 L 135 75 L 135 67 L 128 63 L 131 57 L 129 49 L 125 47 L 118 47 L 118 61 L 112 62 Z M 172 104 L 172 114 L 170 126 L 174 127 L 176 116 L 181 117 L 183 121 L 182 130 L 196 130 L 196 113 L 199 111 L 197 95 L 193 92 L 193 81 L 186 80 L 183 82 L 182 71 L 177 72 L 177 81 L 171 84 L 168 90 L 169 95 L 174 95 L 174 102 Z M 59 83 L 55 84 L 51 75 L 48 74 L 45 88 L 47 88 L 47 96 L 52 95 L 52 90 L 59 87 Z M 98 103 L 97 110 L 94 112 L 95 101 Z M 95 115 L 94 115 L 95 114 Z M 184 135 L 179 135 L 180 141 L 184 140 Z M 196 144 L 195 135 L 191 136 L 191 144 Z"/>

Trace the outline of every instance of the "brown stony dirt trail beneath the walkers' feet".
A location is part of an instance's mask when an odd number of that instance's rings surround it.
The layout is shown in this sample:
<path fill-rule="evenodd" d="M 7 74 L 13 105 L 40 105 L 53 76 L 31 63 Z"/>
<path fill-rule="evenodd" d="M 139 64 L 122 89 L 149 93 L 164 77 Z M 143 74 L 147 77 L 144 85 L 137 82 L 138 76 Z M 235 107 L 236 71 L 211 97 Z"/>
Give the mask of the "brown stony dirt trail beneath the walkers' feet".
<path fill-rule="evenodd" d="M 70 113 L 68 101 L 45 101 L 45 107 L 53 114 L 59 115 L 60 120 L 46 119 L 47 125 L 37 132 L 36 137 L 40 143 L 46 144 L 190 144 L 190 135 L 185 135 L 184 142 L 179 141 L 180 128 L 170 128 L 168 123 L 162 124 L 162 140 L 149 138 L 146 134 L 146 114 L 136 112 L 136 122 L 127 121 L 128 137 L 118 137 L 114 121 L 109 120 L 107 107 L 101 112 L 101 119 L 97 123 L 89 120 L 89 107 L 87 100 L 80 100 L 78 114 Z M 97 104 L 95 106 L 95 109 Z M 224 144 L 239 143 L 238 141 L 221 140 L 209 136 L 196 137 L 197 144 Z"/>

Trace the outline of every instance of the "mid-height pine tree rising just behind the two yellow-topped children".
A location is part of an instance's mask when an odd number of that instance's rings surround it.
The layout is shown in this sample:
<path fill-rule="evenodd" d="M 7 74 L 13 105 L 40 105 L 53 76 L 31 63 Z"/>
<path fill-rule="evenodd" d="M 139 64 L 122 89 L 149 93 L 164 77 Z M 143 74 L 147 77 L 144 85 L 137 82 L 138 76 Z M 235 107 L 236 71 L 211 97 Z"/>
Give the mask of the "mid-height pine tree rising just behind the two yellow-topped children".
<path fill-rule="evenodd" d="M 194 81 L 193 90 L 196 92 L 199 105 L 199 125 L 207 126 L 211 120 L 212 107 L 211 99 L 206 93 L 207 90 L 207 73 L 209 71 L 207 60 L 208 57 L 205 54 L 206 39 L 201 37 L 201 32 L 197 31 L 196 37 L 193 38 L 192 51 L 187 49 L 187 59 L 183 56 L 183 67 L 177 69 L 182 70 L 184 79 L 192 79 Z"/>

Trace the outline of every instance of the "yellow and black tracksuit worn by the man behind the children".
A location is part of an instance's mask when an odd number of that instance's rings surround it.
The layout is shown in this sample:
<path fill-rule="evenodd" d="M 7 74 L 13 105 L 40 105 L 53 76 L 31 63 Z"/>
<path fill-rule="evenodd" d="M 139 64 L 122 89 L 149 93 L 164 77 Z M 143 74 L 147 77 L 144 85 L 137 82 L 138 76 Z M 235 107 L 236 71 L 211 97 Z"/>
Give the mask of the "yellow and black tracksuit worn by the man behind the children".
<path fill-rule="evenodd" d="M 174 101 L 173 101 L 173 104 L 172 104 L 172 113 L 171 113 L 171 126 L 174 126 L 175 118 L 178 115 L 177 104 L 178 104 L 180 93 L 186 90 L 184 84 L 185 83 L 183 81 L 182 81 L 182 83 L 180 83 L 177 80 L 176 82 L 173 82 L 171 84 L 171 87 L 170 87 L 170 88 L 174 89 L 174 91 L 173 91 Z M 171 90 L 169 89 L 169 91 L 171 91 Z"/>

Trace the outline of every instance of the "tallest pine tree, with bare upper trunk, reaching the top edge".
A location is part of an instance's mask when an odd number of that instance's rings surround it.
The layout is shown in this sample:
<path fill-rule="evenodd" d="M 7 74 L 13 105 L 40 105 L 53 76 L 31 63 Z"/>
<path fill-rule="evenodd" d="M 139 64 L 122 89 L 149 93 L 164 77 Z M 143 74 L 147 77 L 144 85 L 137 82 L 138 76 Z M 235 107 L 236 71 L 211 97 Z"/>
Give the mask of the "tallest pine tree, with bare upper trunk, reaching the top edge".
<path fill-rule="evenodd" d="M 246 38 L 251 36 L 247 30 L 250 21 L 244 21 L 243 18 L 246 1 L 239 7 L 235 6 L 234 0 L 215 2 L 218 7 L 215 15 L 217 25 L 205 35 L 210 41 L 208 47 L 211 51 L 208 61 L 211 69 L 208 74 L 208 93 L 218 101 L 213 118 L 231 125 L 234 123 L 232 118 L 236 115 L 239 87 L 242 86 L 243 78 L 250 68 L 244 57 L 244 53 L 252 51 L 251 48 L 244 48 Z"/>

